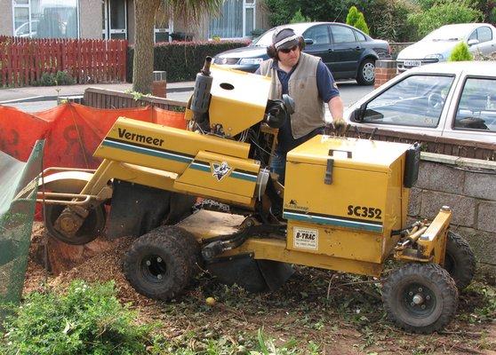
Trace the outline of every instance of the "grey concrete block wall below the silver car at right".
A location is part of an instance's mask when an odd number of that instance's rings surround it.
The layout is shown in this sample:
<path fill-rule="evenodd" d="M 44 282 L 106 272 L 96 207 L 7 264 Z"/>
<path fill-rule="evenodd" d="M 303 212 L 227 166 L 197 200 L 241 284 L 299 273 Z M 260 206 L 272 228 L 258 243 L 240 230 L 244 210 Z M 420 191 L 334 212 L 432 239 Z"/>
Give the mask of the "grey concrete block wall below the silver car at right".
<path fill-rule="evenodd" d="M 408 214 L 433 218 L 444 205 L 452 208 L 452 230 L 496 271 L 496 162 L 422 153 Z"/>

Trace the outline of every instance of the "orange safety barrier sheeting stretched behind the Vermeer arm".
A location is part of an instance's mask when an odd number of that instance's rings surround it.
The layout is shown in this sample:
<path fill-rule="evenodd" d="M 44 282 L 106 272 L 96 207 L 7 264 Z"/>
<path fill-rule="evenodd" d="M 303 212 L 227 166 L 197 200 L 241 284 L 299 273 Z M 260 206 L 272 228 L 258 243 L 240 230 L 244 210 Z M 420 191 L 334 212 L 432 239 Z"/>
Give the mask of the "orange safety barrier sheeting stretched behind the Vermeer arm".
<path fill-rule="evenodd" d="M 44 168 L 97 168 L 100 159 L 92 154 L 118 117 L 184 129 L 184 113 L 155 106 L 127 109 L 98 109 L 68 103 L 28 114 L 0 106 L 0 150 L 26 162 L 37 139 L 46 139 Z"/>

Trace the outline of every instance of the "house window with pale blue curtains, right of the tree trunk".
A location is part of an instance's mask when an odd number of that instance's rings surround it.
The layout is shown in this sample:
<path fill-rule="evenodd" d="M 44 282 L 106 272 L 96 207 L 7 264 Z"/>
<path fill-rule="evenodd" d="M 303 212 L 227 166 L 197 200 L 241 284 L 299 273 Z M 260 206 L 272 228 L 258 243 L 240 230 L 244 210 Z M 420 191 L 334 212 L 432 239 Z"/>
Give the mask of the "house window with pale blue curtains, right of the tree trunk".
<path fill-rule="evenodd" d="M 209 24 L 209 37 L 240 38 L 252 36 L 255 29 L 255 0 L 225 0 L 220 16 Z"/>

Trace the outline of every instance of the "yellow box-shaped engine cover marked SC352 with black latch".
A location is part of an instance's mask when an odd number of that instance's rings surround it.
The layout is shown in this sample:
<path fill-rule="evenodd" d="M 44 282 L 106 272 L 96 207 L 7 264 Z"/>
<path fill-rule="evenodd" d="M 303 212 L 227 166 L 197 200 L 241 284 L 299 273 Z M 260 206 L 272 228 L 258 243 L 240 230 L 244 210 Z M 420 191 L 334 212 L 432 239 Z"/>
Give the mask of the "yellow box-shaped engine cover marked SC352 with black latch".
<path fill-rule="evenodd" d="M 409 147 L 316 136 L 293 149 L 284 185 L 287 248 L 381 262 L 396 242 L 391 230 L 406 218 Z"/>

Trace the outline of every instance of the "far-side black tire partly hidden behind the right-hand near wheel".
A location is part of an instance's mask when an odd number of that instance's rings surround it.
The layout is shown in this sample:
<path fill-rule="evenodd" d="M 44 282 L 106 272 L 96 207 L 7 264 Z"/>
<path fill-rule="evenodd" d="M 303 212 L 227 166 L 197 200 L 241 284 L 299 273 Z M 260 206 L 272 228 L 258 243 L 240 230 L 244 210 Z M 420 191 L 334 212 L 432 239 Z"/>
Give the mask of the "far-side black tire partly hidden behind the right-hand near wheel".
<path fill-rule="evenodd" d="M 448 231 L 444 269 L 450 273 L 458 289 L 466 288 L 476 274 L 476 256 L 459 234 Z"/>

